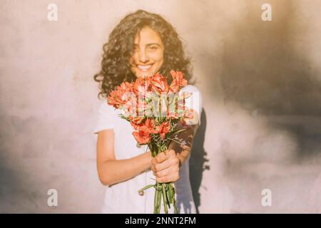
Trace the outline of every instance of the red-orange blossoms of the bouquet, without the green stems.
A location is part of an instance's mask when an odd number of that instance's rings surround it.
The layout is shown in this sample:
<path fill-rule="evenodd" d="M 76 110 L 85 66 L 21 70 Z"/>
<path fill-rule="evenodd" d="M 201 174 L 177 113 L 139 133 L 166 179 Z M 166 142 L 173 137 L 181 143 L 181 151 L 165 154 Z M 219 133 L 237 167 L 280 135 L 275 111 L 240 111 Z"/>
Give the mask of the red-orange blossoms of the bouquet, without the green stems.
<path fill-rule="evenodd" d="M 137 78 L 134 83 L 123 82 L 108 95 L 108 105 L 121 108 L 127 114 L 128 112 L 133 114 L 127 115 L 128 120 L 135 129 L 132 133 L 133 137 L 141 145 L 150 143 L 153 134 L 159 134 L 164 139 L 165 135 L 170 132 L 169 122 L 156 126 L 156 120 L 148 118 L 149 115 L 146 112 L 152 113 L 161 108 L 162 116 L 165 113 L 167 118 L 193 118 L 193 110 L 185 108 L 185 94 L 183 97 L 175 98 L 174 95 L 168 99 L 168 95 L 177 93 L 181 87 L 187 85 L 181 71 L 170 71 L 170 74 L 173 78 L 170 86 L 164 76 L 156 73 L 152 77 Z M 152 105 L 157 105 L 157 107 Z M 144 114 L 140 116 L 142 111 Z"/>

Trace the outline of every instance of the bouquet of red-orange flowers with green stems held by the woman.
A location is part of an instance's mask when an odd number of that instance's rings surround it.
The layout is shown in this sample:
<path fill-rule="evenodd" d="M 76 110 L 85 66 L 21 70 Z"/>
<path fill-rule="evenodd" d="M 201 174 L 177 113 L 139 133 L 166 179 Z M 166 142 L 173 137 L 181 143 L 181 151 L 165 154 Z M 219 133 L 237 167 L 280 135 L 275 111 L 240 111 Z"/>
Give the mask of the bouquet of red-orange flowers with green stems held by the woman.
<path fill-rule="evenodd" d="M 171 141 L 185 145 L 185 141 L 177 134 L 185 130 L 179 128 L 185 124 L 185 119 L 193 118 L 193 110 L 185 107 L 185 99 L 191 94 L 178 93 L 180 88 L 187 85 L 180 71 L 170 71 L 173 78 L 168 85 L 164 76 L 156 73 L 154 76 L 137 78 L 135 82 L 121 83 L 116 90 L 108 95 L 108 105 L 121 109 L 120 117 L 133 126 L 133 137 L 139 145 L 148 145 L 153 157 L 168 150 Z M 175 136 L 174 136 L 175 135 Z M 161 211 L 163 198 L 164 211 L 175 205 L 175 185 L 173 183 L 158 183 L 147 185 L 139 193 L 155 187 L 154 213 Z"/>

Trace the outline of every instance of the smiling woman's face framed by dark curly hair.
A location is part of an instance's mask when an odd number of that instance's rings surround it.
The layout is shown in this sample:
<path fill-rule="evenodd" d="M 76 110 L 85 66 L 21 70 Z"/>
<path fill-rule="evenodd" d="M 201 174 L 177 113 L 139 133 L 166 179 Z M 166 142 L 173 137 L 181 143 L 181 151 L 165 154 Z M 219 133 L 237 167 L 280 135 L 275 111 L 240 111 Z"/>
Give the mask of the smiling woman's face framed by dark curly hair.
<path fill-rule="evenodd" d="M 153 76 L 164 61 L 164 45 L 161 37 L 146 26 L 135 37 L 135 48 L 130 58 L 131 71 L 136 77 Z"/>

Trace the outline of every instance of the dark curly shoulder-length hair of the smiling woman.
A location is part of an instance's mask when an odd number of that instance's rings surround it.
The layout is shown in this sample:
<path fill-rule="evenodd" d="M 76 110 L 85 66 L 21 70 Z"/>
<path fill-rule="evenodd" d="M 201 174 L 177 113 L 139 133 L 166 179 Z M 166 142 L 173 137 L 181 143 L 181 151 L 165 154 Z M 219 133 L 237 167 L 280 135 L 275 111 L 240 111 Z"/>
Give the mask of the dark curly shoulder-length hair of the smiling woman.
<path fill-rule="evenodd" d="M 158 14 L 138 10 L 125 16 L 109 35 L 108 43 L 103 45 L 101 71 L 93 76 L 101 89 L 98 98 L 106 98 L 111 90 L 124 81 L 136 80 L 129 58 L 133 53 L 135 36 L 145 26 L 158 32 L 164 44 L 164 62 L 159 73 L 171 83 L 170 71 L 182 71 L 188 83 L 192 83 L 190 58 L 185 56 L 183 43 L 175 28 Z"/>

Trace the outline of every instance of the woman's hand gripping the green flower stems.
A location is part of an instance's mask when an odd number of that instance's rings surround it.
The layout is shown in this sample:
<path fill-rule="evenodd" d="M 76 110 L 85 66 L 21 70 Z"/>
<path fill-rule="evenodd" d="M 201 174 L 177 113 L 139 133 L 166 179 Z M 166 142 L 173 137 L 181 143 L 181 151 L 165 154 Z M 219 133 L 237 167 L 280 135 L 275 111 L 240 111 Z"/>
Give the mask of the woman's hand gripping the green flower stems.
<path fill-rule="evenodd" d="M 151 170 L 159 183 L 175 182 L 180 178 L 180 160 L 175 150 L 165 150 L 151 160 Z"/>

